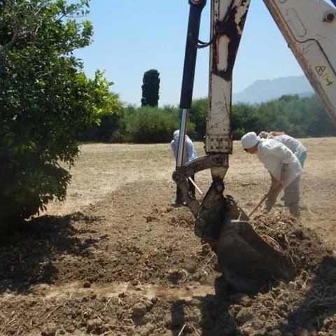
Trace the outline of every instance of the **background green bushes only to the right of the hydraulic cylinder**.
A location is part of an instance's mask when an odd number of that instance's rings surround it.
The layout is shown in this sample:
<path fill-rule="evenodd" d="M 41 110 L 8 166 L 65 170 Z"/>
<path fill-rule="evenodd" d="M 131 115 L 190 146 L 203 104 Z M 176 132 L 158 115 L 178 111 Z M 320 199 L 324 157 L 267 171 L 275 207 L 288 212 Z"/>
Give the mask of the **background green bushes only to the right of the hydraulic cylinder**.
<path fill-rule="evenodd" d="M 208 99 L 197 99 L 190 110 L 195 123 L 197 140 L 205 134 Z M 233 139 L 250 131 L 280 130 L 293 137 L 325 137 L 335 135 L 321 99 L 314 95 L 300 98 L 285 95 L 262 104 L 235 104 L 232 106 L 231 134 Z"/>

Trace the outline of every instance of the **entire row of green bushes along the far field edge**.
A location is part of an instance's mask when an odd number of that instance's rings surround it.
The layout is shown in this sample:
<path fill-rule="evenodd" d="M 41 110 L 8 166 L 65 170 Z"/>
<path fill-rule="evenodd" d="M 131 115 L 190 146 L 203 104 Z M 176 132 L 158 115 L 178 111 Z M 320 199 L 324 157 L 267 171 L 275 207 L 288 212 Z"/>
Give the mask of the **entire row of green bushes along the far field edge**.
<path fill-rule="evenodd" d="M 208 99 L 195 99 L 190 109 L 188 134 L 197 141 L 204 139 L 207 113 Z M 179 109 L 172 106 L 163 109 L 127 106 L 113 116 L 110 127 L 105 130 L 97 127 L 91 140 L 166 142 L 171 139 L 172 130 L 179 128 Z M 258 133 L 262 130 L 284 131 L 293 137 L 335 135 L 335 129 L 316 95 L 307 98 L 286 95 L 263 104 L 232 106 L 232 139 L 241 139 L 249 131 Z"/>

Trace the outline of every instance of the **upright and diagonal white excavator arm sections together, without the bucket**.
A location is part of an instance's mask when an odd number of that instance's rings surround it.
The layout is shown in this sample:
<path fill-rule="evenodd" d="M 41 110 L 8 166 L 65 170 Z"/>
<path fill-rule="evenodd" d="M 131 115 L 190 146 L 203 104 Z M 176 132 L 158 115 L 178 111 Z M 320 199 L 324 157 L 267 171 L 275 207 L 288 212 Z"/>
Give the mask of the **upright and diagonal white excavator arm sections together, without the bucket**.
<path fill-rule="evenodd" d="M 336 10 L 323 0 L 263 0 L 316 93 L 336 125 Z M 207 0 L 189 0 L 190 13 L 181 90 L 180 142 L 173 179 L 197 218 L 196 227 L 222 221 L 224 178 L 232 153 L 230 114 L 232 71 L 250 0 L 211 0 L 209 43 L 199 41 L 202 9 Z M 336 0 L 332 0 L 336 3 Z M 182 165 L 184 134 L 193 97 L 198 48 L 210 47 L 209 112 L 204 150 L 206 155 Z M 188 176 L 210 169 L 212 183 L 202 204 L 188 193 Z M 216 211 L 218 209 L 218 211 Z M 211 213 L 208 218 L 209 212 Z M 216 214 L 218 212 L 218 214 Z M 216 222 L 216 221 L 215 221 Z M 200 231 L 200 230 L 199 230 Z"/>

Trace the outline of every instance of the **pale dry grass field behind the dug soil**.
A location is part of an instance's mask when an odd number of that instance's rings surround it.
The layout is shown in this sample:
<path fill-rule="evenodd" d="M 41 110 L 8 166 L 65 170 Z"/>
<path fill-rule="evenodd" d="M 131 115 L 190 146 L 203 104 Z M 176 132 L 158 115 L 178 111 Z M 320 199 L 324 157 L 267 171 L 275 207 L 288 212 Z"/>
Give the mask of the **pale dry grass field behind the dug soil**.
<path fill-rule="evenodd" d="M 319 206 L 328 205 L 336 190 L 336 138 L 302 139 L 302 143 L 308 149 L 302 182 L 304 206 L 316 207 L 316 191 L 320 195 Z M 199 155 L 204 153 L 202 143 L 196 143 L 195 148 Z M 70 214 L 134 181 L 164 180 L 167 190 L 174 193 L 173 170 L 169 144 L 84 144 L 80 158 L 71 169 L 73 178 L 66 202 L 50 204 L 47 213 Z M 197 174 L 196 182 L 206 192 L 211 183 L 210 172 Z M 241 151 L 239 141 L 235 141 L 225 182 L 227 193 L 237 198 L 245 209 L 251 209 L 267 190 L 269 176 L 259 160 Z M 321 186 L 328 188 L 321 190 Z"/>

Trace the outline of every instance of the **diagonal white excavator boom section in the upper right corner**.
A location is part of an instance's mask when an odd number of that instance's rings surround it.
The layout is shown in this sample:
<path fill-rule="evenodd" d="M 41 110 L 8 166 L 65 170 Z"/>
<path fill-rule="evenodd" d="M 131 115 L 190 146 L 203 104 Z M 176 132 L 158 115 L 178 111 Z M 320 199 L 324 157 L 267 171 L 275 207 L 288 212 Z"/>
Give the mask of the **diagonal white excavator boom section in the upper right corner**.
<path fill-rule="evenodd" d="M 336 126 L 335 8 L 323 0 L 264 2 Z"/>

